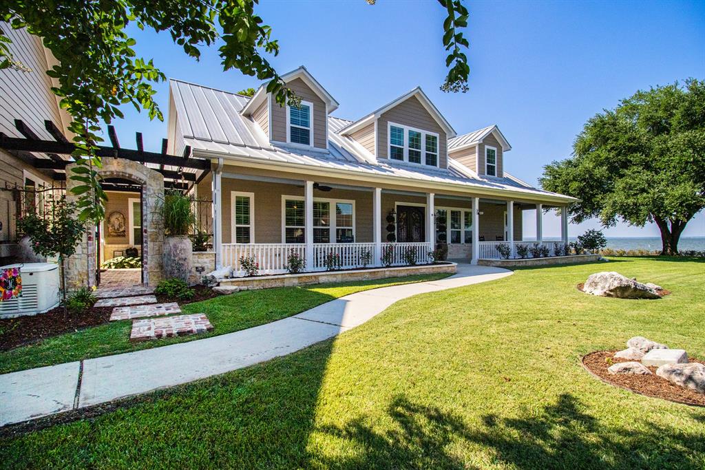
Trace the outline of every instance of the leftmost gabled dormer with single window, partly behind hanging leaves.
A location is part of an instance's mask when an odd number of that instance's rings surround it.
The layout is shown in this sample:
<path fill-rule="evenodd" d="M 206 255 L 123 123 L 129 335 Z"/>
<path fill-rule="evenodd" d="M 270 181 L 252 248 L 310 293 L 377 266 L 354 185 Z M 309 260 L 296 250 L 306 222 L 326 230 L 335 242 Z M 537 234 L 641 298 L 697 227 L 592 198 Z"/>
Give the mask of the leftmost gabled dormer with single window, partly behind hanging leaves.
<path fill-rule="evenodd" d="M 262 85 L 243 108 L 243 116 L 255 120 L 272 144 L 328 149 L 328 115 L 338 101 L 304 66 L 281 78 L 301 98 L 301 107 L 280 106 Z"/>

